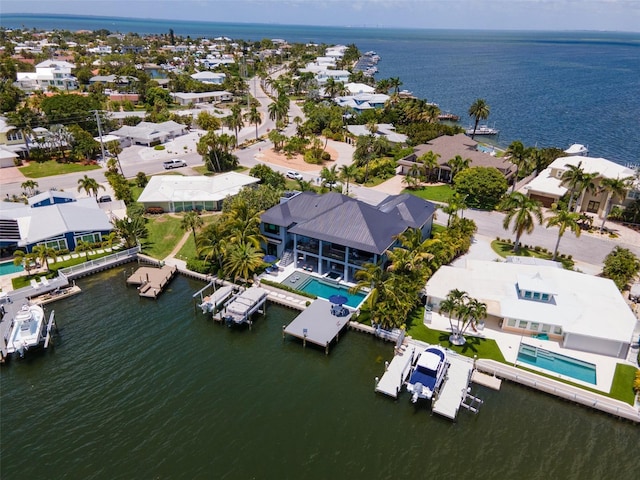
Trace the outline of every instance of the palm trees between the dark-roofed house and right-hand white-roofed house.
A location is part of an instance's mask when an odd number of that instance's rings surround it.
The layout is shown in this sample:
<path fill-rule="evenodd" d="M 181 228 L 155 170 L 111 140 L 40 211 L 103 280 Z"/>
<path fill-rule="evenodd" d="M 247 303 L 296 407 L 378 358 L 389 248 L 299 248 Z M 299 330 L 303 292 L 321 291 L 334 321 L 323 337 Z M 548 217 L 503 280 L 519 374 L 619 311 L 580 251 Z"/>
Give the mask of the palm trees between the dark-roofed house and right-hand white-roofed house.
<path fill-rule="evenodd" d="M 398 235 L 398 246 L 385 252 L 384 264 L 368 263 L 356 273 L 357 283 L 351 291 L 370 292 L 363 313 L 383 328 L 404 326 L 427 279 L 441 265 L 468 251 L 475 230 L 473 221 L 457 219 L 451 228 L 427 240 L 418 229 Z"/>

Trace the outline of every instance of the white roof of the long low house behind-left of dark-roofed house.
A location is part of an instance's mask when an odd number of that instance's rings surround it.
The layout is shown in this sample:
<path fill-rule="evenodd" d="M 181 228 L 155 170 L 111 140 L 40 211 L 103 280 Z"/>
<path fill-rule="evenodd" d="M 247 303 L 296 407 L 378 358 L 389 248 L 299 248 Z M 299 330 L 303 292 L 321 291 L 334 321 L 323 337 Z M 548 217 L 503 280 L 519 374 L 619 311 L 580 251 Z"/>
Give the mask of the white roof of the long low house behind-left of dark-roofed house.
<path fill-rule="evenodd" d="M 140 203 L 158 202 L 215 202 L 236 195 L 246 185 L 260 180 L 237 172 L 213 177 L 159 175 L 151 177 L 138 198 Z"/>

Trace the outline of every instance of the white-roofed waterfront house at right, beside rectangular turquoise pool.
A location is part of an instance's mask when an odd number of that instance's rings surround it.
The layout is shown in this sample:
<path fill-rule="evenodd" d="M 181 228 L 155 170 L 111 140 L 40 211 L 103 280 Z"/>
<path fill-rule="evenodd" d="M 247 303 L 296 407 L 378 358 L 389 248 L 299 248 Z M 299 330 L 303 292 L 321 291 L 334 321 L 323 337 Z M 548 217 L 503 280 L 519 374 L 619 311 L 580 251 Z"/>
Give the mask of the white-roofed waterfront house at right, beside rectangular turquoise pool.
<path fill-rule="evenodd" d="M 443 266 L 426 285 L 437 311 L 453 289 L 487 305 L 488 327 L 546 335 L 564 348 L 625 358 L 636 317 L 612 280 L 558 266 L 467 260 Z"/>

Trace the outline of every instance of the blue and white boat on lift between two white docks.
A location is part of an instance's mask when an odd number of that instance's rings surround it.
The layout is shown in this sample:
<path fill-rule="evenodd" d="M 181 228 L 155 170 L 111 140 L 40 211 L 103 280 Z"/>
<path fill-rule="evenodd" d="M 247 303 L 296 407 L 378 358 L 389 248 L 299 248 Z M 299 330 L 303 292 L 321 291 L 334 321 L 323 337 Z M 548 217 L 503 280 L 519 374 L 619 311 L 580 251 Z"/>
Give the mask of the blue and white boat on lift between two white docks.
<path fill-rule="evenodd" d="M 442 347 L 433 345 L 422 352 L 407 382 L 407 391 L 412 393 L 411 402 L 431 400 L 442 385 L 448 367 L 447 352 Z"/>

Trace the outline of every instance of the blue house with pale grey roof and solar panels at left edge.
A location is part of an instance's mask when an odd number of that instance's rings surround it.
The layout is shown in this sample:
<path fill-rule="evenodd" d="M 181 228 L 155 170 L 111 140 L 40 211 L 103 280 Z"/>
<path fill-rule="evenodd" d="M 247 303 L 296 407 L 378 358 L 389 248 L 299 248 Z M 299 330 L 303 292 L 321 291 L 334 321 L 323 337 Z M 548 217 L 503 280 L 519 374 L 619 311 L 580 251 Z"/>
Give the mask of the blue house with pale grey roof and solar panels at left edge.
<path fill-rule="evenodd" d="M 29 198 L 28 205 L 0 202 L 0 247 L 30 252 L 44 244 L 74 250 L 77 242 L 102 241 L 113 229 L 94 197 L 76 198 L 71 192 L 47 191 Z"/>

